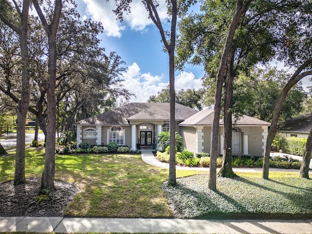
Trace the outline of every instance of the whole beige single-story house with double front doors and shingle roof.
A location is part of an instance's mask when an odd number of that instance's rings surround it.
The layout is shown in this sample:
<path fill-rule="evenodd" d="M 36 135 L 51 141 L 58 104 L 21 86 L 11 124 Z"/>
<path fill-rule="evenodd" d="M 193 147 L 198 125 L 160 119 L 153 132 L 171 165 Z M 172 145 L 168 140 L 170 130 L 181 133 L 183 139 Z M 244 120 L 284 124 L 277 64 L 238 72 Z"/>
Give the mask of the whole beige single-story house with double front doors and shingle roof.
<path fill-rule="evenodd" d="M 108 144 L 117 142 L 132 150 L 152 148 L 156 134 L 169 131 L 169 103 L 129 103 L 95 117 L 80 120 L 77 126 L 77 144 Z M 176 103 L 176 132 L 187 150 L 210 152 L 213 109 L 196 112 Z M 234 122 L 234 119 L 233 119 Z M 223 120 L 219 127 L 219 153 L 223 146 Z M 269 122 L 243 116 L 233 126 L 233 154 L 261 156 L 268 135 Z M 157 147 L 158 148 L 158 147 Z"/>

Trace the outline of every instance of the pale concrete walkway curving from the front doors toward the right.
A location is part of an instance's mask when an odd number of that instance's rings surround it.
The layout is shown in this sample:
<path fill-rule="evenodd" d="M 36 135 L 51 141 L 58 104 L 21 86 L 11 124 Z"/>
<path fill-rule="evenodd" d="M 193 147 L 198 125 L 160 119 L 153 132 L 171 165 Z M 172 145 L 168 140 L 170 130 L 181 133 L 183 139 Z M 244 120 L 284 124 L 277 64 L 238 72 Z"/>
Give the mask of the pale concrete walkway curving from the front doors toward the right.
<path fill-rule="evenodd" d="M 153 152 L 151 151 L 142 151 L 142 160 L 147 164 L 169 169 L 169 164 L 158 161 Z M 193 170 L 193 171 L 207 171 L 209 173 L 209 167 L 181 167 L 176 166 L 176 170 Z M 217 168 L 219 170 L 219 168 Z M 233 168 L 234 172 L 262 172 L 262 168 Z M 280 169 L 280 168 L 270 168 L 270 172 L 298 172 L 298 169 Z M 312 233 L 312 231 L 311 231 Z"/>

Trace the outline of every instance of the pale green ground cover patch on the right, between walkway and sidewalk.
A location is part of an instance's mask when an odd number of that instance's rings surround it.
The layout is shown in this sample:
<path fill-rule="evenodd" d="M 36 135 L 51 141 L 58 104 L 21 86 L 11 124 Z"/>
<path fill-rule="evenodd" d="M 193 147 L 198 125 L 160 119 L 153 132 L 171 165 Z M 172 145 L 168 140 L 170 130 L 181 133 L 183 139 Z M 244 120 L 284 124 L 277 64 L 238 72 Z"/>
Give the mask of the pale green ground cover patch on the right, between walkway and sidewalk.
<path fill-rule="evenodd" d="M 180 218 L 312 217 L 312 180 L 298 173 L 240 173 L 217 178 L 217 192 L 208 189 L 208 175 L 177 179 L 176 187 L 164 186 Z"/>

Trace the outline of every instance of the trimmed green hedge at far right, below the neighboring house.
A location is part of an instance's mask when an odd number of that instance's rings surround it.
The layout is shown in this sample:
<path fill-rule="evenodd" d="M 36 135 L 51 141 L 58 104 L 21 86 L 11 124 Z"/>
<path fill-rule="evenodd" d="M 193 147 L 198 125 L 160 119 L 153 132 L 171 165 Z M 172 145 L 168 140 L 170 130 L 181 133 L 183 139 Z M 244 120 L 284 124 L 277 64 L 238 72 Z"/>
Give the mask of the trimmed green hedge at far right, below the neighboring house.
<path fill-rule="evenodd" d="M 283 153 L 303 156 L 303 149 L 306 142 L 307 138 L 286 137 L 281 140 L 280 147 Z"/>

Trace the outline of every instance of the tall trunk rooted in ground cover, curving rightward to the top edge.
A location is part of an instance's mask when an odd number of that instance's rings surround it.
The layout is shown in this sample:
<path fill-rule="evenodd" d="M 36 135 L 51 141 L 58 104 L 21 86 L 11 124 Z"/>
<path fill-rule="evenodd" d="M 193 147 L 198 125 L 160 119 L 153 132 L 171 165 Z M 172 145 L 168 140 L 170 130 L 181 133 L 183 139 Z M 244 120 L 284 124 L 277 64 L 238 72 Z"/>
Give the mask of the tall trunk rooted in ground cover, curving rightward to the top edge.
<path fill-rule="evenodd" d="M 230 54 L 231 46 L 234 39 L 234 34 L 238 25 L 238 22 L 243 14 L 246 13 L 247 8 L 252 0 L 247 0 L 243 3 L 243 0 L 237 0 L 235 14 L 230 25 L 227 39 L 225 41 L 223 54 L 220 60 L 218 75 L 215 85 L 215 110 L 214 120 L 211 133 L 211 150 L 210 150 L 210 172 L 208 186 L 211 190 L 216 190 L 216 159 L 218 156 L 218 138 L 219 138 L 219 122 L 221 112 L 221 96 L 222 96 L 222 81 L 224 77 L 224 71 L 227 64 L 227 59 Z"/>

